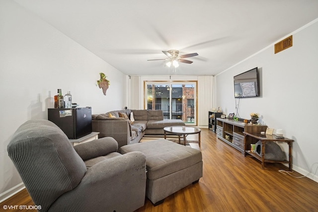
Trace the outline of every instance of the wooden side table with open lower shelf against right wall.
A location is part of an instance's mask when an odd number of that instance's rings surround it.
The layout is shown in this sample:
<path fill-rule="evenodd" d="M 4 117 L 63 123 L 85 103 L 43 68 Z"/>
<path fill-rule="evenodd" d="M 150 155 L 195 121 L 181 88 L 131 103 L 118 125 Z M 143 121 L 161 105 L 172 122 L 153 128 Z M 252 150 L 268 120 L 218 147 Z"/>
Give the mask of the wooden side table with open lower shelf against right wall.
<path fill-rule="evenodd" d="M 250 150 L 250 144 L 255 143 L 257 141 L 262 142 L 262 152 L 261 152 L 261 157 L 258 156 L 255 152 L 251 152 Z M 289 158 L 287 160 L 283 161 L 277 161 L 277 160 L 265 160 L 265 143 L 266 142 L 273 142 L 273 141 L 282 141 L 288 143 L 289 147 Z M 276 138 L 275 135 L 262 135 L 260 133 L 248 133 L 244 132 L 244 156 L 252 156 L 255 157 L 256 159 L 260 160 L 262 163 L 262 169 L 265 167 L 265 163 L 288 163 L 289 164 L 289 170 L 292 170 L 292 142 L 294 140 L 291 139 L 280 139 Z"/>

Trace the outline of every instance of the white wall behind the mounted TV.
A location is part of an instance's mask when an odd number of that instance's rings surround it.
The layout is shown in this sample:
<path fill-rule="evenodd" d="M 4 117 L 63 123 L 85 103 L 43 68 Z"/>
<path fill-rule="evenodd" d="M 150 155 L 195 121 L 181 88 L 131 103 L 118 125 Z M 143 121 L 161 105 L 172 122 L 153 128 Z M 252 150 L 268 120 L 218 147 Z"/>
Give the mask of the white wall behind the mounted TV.
<path fill-rule="evenodd" d="M 318 162 L 318 19 L 291 34 L 292 47 L 274 54 L 271 45 L 218 74 L 217 106 L 228 115 L 236 112 L 237 101 L 241 118 L 249 119 L 249 113 L 258 112 L 262 124 L 283 129 L 285 137 L 295 140 L 293 169 L 307 175 Z M 255 67 L 260 70 L 261 96 L 235 100 L 233 76 Z M 287 145 L 282 146 L 288 152 Z M 314 164 L 314 170 L 317 167 Z M 309 178 L 318 182 L 317 174 Z"/>

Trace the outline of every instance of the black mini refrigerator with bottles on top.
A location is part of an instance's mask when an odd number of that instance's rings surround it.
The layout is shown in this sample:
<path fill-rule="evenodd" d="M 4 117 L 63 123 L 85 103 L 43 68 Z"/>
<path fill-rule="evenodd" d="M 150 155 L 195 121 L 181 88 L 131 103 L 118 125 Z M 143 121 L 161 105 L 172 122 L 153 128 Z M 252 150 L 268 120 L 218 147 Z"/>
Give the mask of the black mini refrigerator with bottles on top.
<path fill-rule="evenodd" d="M 91 107 L 49 108 L 48 120 L 61 128 L 69 139 L 79 139 L 92 132 Z"/>

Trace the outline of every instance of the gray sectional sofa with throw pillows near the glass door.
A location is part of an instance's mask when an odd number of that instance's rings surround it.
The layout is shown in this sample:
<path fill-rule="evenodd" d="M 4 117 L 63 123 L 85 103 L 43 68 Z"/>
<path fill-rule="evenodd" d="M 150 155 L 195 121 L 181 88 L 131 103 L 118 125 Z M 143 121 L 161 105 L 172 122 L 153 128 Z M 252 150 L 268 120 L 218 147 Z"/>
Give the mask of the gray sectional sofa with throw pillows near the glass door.
<path fill-rule="evenodd" d="M 120 117 L 120 113 L 126 114 L 128 119 Z M 131 113 L 135 119 L 133 123 L 130 121 Z M 114 138 L 119 147 L 138 143 L 144 135 L 163 135 L 164 127 L 175 125 L 185 124 L 179 119 L 163 119 L 162 110 L 126 109 L 92 115 L 92 131 L 99 132 L 98 138 Z"/>

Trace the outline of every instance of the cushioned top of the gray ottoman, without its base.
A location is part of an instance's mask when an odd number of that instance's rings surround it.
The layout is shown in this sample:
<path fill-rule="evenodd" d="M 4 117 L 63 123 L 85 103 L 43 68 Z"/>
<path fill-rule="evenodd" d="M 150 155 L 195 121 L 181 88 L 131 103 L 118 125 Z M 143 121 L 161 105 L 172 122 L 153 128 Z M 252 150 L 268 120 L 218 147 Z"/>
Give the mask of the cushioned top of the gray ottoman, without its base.
<path fill-rule="evenodd" d="M 150 180 L 158 179 L 202 161 L 200 150 L 164 139 L 134 143 L 119 149 L 121 154 L 131 151 L 141 151 L 146 155 L 147 178 Z"/>

